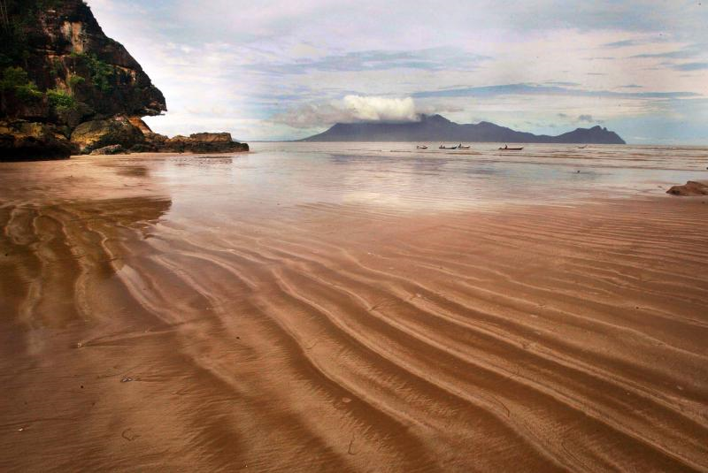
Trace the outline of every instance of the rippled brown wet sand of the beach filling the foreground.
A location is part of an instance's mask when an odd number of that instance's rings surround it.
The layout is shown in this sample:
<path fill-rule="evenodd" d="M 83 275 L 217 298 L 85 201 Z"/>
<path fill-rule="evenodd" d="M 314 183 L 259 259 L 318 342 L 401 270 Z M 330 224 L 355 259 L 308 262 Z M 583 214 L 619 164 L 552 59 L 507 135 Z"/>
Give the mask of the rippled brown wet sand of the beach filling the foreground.
<path fill-rule="evenodd" d="M 3 164 L 0 469 L 708 471 L 708 199 L 287 201 L 215 159 Z"/>

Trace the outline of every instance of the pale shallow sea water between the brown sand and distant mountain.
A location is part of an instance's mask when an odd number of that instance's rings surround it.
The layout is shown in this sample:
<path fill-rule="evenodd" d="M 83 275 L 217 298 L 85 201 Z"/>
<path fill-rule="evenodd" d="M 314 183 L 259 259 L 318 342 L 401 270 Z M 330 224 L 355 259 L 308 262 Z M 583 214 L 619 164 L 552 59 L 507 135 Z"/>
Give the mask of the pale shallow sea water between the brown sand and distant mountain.
<path fill-rule="evenodd" d="M 366 203 L 399 210 L 479 207 L 500 202 L 567 202 L 662 195 L 688 179 L 708 179 L 708 148 L 526 145 L 418 150 L 412 143 L 254 143 L 231 163 L 190 162 L 189 179 L 236 200 Z M 158 175 L 185 172 L 165 163 Z M 194 169 L 198 171 L 193 171 Z M 198 177 L 197 177 L 198 176 Z"/>

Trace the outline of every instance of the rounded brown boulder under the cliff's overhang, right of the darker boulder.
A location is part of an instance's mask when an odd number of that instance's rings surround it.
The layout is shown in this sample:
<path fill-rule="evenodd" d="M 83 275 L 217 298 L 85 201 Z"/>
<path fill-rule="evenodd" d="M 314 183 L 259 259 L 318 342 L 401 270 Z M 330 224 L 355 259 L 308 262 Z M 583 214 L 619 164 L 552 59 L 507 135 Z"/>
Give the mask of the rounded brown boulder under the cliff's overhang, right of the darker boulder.
<path fill-rule="evenodd" d="M 127 118 L 115 117 L 81 123 L 73 129 L 71 141 L 86 154 L 116 144 L 129 149 L 144 142 L 145 136 Z"/>

